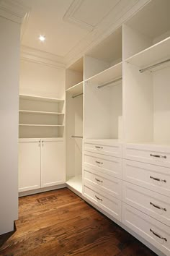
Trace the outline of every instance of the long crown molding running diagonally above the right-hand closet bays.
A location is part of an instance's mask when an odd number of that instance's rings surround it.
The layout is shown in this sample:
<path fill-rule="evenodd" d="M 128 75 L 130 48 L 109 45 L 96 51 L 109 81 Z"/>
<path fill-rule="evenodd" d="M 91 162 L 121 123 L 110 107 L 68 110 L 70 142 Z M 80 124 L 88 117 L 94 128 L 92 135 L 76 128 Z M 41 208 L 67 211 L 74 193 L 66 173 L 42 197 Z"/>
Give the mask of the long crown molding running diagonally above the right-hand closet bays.
<path fill-rule="evenodd" d="M 81 40 L 79 43 L 64 57 L 67 65 L 73 64 L 74 61 L 84 56 L 91 48 L 100 43 L 104 38 L 114 32 L 117 27 L 120 27 L 130 17 L 133 16 L 139 9 L 143 8 L 151 0 L 121 0 L 117 4 L 117 9 L 110 12 L 102 25 L 98 25 L 92 30 L 89 35 L 86 35 L 86 40 Z M 114 18 L 113 18 L 114 17 Z"/>

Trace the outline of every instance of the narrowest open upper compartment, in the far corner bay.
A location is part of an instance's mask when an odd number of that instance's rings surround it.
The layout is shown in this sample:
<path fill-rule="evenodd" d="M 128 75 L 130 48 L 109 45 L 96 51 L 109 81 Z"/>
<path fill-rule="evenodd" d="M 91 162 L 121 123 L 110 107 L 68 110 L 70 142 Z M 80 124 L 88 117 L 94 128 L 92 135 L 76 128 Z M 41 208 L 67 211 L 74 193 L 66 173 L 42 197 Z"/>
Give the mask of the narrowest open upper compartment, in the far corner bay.
<path fill-rule="evenodd" d="M 83 87 L 83 81 L 84 59 L 82 57 L 66 69 L 66 91 L 71 92 L 73 89 L 73 93 L 76 93 L 76 88 Z"/>

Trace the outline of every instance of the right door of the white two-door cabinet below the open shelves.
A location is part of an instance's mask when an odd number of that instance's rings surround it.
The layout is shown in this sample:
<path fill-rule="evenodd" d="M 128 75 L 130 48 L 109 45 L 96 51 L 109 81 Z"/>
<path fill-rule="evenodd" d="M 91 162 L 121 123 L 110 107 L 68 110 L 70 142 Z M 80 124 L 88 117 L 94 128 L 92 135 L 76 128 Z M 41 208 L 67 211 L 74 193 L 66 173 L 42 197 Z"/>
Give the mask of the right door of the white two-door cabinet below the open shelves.
<path fill-rule="evenodd" d="M 41 187 L 63 184 L 66 181 L 64 141 L 42 139 Z"/>

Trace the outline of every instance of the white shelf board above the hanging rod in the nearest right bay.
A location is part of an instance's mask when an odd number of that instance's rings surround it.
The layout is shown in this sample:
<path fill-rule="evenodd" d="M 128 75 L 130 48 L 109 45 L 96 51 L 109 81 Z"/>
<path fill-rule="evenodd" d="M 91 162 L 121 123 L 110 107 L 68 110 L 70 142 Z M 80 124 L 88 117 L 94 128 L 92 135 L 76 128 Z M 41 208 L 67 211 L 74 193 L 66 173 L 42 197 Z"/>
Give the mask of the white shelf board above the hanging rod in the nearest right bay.
<path fill-rule="evenodd" d="M 148 65 L 156 64 L 158 61 L 162 61 L 170 58 L 170 37 L 162 40 L 153 46 L 140 51 L 138 54 L 126 59 L 130 64 L 134 64 L 140 68 L 144 68 Z"/>

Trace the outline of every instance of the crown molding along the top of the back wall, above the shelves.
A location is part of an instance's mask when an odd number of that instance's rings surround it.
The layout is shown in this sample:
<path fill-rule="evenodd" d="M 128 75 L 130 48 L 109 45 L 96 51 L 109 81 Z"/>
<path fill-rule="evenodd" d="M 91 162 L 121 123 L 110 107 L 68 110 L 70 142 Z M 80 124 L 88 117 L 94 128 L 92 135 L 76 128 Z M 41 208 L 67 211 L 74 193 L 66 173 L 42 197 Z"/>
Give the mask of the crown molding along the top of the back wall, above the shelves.
<path fill-rule="evenodd" d="M 27 46 L 21 47 L 21 60 L 32 61 L 38 64 L 45 64 L 55 68 L 66 68 L 66 64 L 62 56 L 50 54 L 45 51 L 39 51 L 35 48 Z"/>

